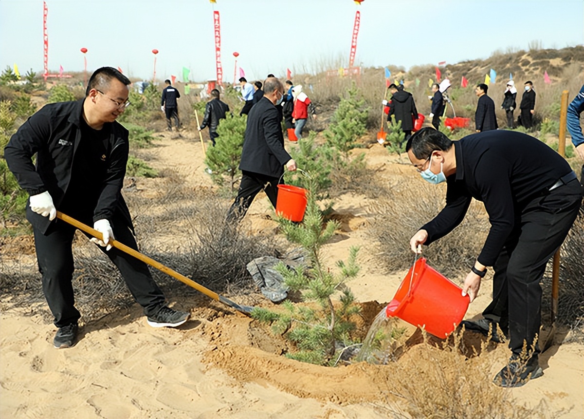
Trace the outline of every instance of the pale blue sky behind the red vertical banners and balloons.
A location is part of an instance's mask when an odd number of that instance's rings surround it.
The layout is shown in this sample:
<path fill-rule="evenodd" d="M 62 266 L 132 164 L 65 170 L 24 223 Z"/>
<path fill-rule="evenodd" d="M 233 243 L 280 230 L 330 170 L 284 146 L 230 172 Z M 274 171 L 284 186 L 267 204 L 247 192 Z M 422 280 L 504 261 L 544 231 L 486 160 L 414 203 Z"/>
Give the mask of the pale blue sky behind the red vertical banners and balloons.
<path fill-rule="evenodd" d="M 482 0 L 47 0 L 48 67 L 88 71 L 120 67 L 151 79 L 215 77 L 213 9 L 220 12 L 224 81 L 234 57 L 248 79 L 345 67 L 357 10 L 361 25 L 356 65 L 378 67 L 486 58 L 497 49 L 584 43 L 584 2 Z M 43 72 L 43 2 L 0 1 L 0 70 L 16 63 L 22 74 Z"/>

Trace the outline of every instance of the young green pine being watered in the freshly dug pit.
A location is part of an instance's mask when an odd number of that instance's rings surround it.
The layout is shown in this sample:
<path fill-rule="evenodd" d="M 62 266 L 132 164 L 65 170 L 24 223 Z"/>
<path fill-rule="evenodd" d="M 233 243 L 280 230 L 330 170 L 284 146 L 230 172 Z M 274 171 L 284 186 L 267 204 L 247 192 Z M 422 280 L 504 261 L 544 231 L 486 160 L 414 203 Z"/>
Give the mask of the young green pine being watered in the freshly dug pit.
<path fill-rule="evenodd" d="M 303 299 L 315 301 L 316 306 L 295 305 L 289 300 L 279 312 L 255 308 L 252 316 L 272 324 L 274 333 L 293 341 L 298 351 L 288 358 L 319 365 L 333 365 L 343 347 L 350 345 L 350 332 L 355 324 L 350 316 L 359 313 L 354 296 L 345 281 L 359 272 L 356 264 L 358 248 L 350 249 L 347 262 L 337 262 L 340 271 L 331 272 L 322 264 L 320 250 L 335 234 L 338 223 L 328 221 L 322 228 L 321 211 L 314 196 L 309 195 L 304 221 L 301 224 L 281 219 L 288 240 L 300 244 L 308 254 L 307 266 L 288 270 L 285 265 L 276 267 L 291 290 L 300 291 Z M 339 303 L 333 304 L 333 295 L 340 292 Z"/>

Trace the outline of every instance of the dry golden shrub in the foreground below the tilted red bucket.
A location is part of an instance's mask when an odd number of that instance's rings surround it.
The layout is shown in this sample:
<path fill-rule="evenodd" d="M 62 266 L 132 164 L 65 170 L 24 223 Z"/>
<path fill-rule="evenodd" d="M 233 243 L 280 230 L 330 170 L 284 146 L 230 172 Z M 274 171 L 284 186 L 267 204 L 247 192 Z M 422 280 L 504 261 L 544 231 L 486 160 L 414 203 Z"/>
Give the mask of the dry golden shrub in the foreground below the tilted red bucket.
<path fill-rule="evenodd" d="M 509 389 L 492 383 L 495 356 L 460 355 L 463 332 L 453 335 L 453 343 L 439 347 L 416 345 L 389 366 L 394 370 L 388 390 L 405 400 L 399 415 L 412 418 L 550 418 L 564 412 L 550 412 L 541 401 L 536 407 L 522 406 Z M 502 363 L 503 365 L 503 363 Z M 401 406 L 403 406 L 400 403 Z"/>

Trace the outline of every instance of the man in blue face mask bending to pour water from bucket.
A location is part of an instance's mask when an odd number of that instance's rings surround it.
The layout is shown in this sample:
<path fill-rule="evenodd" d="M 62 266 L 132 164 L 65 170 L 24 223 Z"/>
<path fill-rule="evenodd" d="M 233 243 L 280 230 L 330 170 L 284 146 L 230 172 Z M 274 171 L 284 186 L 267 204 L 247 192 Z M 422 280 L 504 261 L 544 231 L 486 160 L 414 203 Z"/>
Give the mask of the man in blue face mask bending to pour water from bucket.
<path fill-rule="evenodd" d="M 477 297 L 488 266 L 493 300 L 484 318 L 464 321 L 467 330 L 509 333 L 512 355 L 493 382 L 519 387 L 543 375 L 538 365 L 541 325 L 540 280 L 548 259 L 572 227 L 582 186 L 568 163 L 545 143 L 514 131 L 485 131 L 451 141 L 424 128 L 406 144 L 409 160 L 427 182 L 446 182 L 446 206 L 410 240 L 412 251 L 446 236 L 464 219 L 471 199 L 484 202 L 491 228 L 463 285 Z M 520 356 L 527 348 L 527 360 Z"/>

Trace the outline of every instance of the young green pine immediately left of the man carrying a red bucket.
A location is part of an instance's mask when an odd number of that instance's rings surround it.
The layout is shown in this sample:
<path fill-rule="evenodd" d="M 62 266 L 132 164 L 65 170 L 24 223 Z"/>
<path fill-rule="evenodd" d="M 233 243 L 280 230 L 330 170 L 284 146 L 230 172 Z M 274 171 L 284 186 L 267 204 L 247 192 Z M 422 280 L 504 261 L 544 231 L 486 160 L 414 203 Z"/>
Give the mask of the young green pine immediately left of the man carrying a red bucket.
<path fill-rule="evenodd" d="M 239 179 L 239 161 L 244 148 L 246 116 L 227 115 L 217 127 L 219 137 L 215 138 L 215 147 L 207 148 L 205 164 L 211 171 L 211 179 L 217 185 L 223 186 L 229 179 L 230 191 Z"/>

